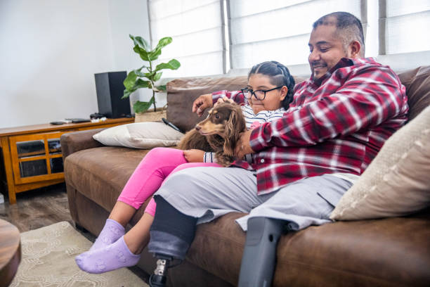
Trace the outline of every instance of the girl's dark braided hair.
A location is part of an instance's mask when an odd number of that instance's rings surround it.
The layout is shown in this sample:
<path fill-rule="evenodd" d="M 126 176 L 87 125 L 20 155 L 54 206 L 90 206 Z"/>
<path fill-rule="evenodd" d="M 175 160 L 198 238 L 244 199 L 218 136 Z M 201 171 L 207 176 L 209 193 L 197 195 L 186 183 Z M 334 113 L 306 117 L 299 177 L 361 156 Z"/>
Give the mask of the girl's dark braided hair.
<path fill-rule="evenodd" d="M 285 86 L 288 88 L 287 96 L 285 96 L 282 101 L 282 107 L 287 110 L 289 108 L 289 103 L 291 103 L 293 99 L 295 84 L 294 78 L 289 74 L 288 68 L 275 60 L 271 60 L 254 65 L 248 73 L 248 79 L 254 74 L 266 75 L 270 78 L 271 84 L 276 87 Z"/>

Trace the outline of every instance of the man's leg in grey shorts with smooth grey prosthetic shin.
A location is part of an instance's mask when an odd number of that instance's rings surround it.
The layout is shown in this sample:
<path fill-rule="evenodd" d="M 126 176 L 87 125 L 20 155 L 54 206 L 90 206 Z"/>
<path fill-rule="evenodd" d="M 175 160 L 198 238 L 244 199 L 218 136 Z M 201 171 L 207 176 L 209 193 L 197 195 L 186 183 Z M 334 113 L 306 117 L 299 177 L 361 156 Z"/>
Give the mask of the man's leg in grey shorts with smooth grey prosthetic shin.
<path fill-rule="evenodd" d="M 271 286 L 276 245 L 282 231 L 330 222 L 334 204 L 351 185 L 329 174 L 301 179 L 284 186 L 249 215 L 237 219 L 247 229 L 238 286 Z"/>

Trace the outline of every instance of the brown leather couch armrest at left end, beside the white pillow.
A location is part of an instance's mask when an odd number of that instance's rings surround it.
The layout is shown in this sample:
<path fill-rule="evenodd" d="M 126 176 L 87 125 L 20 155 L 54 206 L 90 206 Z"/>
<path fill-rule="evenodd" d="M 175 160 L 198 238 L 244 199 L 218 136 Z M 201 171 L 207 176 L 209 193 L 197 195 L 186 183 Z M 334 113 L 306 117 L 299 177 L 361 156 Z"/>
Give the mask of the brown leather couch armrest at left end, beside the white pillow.
<path fill-rule="evenodd" d="M 101 129 L 88 129 L 79 132 L 69 132 L 61 136 L 61 151 L 63 153 L 63 161 L 71 153 L 76 153 L 77 151 L 82 151 L 87 148 L 98 148 L 103 146 L 98 141 L 93 139 L 93 135 L 102 131 Z"/>

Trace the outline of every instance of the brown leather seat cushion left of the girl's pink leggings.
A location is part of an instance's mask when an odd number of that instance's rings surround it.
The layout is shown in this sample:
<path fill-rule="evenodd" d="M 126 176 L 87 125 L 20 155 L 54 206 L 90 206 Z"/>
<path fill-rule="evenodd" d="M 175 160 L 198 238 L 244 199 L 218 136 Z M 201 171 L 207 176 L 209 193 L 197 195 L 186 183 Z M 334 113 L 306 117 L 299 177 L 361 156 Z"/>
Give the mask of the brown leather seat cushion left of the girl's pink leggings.
<path fill-rule="evenodd" d="M 105 210 L 112 210 L 129 177 L 149 150 L 103 146 L 65 159 L 65 180 Z"/>

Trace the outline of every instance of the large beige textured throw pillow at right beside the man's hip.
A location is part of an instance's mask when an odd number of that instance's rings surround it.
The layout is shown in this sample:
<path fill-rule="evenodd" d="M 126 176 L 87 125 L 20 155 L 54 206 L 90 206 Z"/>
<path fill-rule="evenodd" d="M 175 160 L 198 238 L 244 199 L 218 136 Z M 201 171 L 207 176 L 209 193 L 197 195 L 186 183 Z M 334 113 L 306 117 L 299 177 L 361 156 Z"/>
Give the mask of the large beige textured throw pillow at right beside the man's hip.
<path fill-rule="evenodd" d="M 408 215 L 430 205 L 430 106 L 391 136 L 330 219 Z"/>

